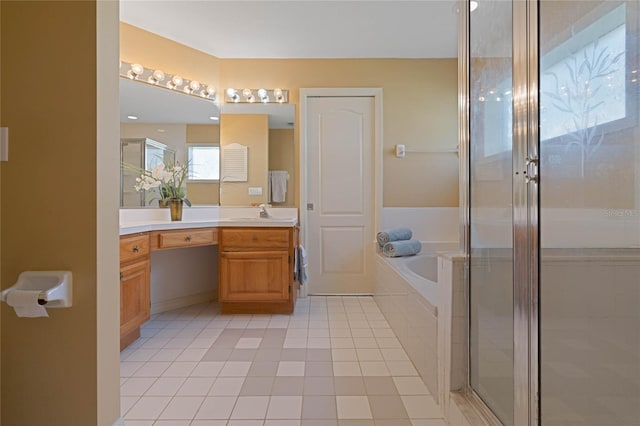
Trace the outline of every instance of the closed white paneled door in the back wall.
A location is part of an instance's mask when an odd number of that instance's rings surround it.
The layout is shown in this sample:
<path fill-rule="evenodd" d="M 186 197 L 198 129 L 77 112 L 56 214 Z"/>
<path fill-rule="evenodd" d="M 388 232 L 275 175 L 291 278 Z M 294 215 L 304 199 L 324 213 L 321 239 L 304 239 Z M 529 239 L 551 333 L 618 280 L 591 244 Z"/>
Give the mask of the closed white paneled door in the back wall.
<path fill-rule="evenodd" d="M 308 293 L 370 293 L 374 98 L 309 98 L 305 119 Z"/>

